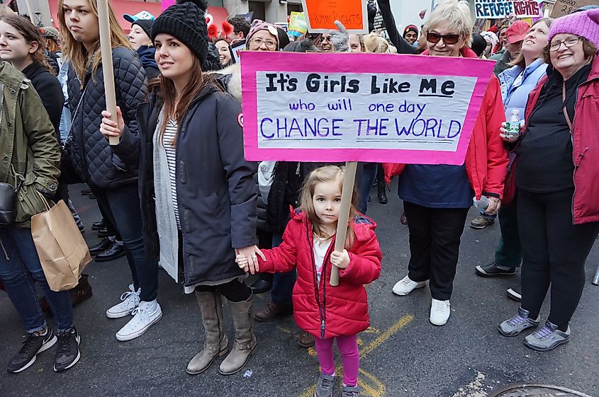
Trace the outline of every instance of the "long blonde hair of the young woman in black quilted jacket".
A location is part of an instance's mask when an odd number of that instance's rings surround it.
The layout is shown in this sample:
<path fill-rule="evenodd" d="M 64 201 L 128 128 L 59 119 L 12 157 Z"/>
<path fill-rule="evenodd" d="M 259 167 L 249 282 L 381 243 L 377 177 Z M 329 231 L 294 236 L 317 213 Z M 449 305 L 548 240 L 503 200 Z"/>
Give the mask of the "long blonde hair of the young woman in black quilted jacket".
<path fill-rule="evenodd" d="M 96 1 L 88 0 L 87 4 L 89 4 L 89 8 L 91 8 L 91 13 L 98 18 L 98 6 Z M 88 52 L 83 43 L 75 40 L 69 31 L 69 28 L 67 28 L 65 11 L 62 9 L 64 5 L 65 0 L 60 0 L 58 2 L 58 24 L 60 27 L 60 35 L 62 37 L 62 54 L 66 59 L 69 60 L 69 62 L 71 62 L 71 65 L 75 73 L 77 73 L 77 76 L 79 77 L 83 87 L 86 69 L 91 65 L 91 74 L 93 75 L 98 69 L 102 60 L 100 53 L 100 36 L 98 35 L 98 40 L 94 42 L 94 45 L 91 46 Z M 129 40 L 121 29 L 121 25 L 119 25 L 118 21 L 116 20 L 116 16 L 112 10 L 110 1 L 108 1 L 108 18 L 110 19 L 112 47 L 127 47 L 130 50 L 133 50 L 133 47 L 131 47 Z"/>

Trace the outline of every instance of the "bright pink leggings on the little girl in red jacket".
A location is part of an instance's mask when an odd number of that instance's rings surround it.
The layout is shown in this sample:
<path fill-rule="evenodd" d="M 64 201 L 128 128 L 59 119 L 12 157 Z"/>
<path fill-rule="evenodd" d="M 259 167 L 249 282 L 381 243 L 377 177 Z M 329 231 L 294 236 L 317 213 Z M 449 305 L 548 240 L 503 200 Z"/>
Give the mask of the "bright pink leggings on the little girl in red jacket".
<path fill-rule="evenodd" d="M 358 351 L 358 335 L 337 336 L 337 348 L 341 353 L 343 364 L 343 384 L 356 386 L 358 384 L 358 370 L 360 367 L 360 353 Z M 335 358 L 332 352 L 332 341 L 330 339 L 315 338 L 314 347 L 318 355 L 320 369 L 325 375 L 335 374 Z"/>

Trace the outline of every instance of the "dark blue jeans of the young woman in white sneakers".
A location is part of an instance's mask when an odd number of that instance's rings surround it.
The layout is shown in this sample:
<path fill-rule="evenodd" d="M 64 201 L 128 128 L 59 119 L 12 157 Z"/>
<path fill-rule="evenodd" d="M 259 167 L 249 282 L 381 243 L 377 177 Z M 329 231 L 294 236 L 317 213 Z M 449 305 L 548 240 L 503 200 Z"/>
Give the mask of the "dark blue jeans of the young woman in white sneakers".
<path fill-rule="evenodd" d="M 106 214 L 123 238 L 135 290 L 142 289 L 142 301 L 153 301 L 158 294 L 158 263 L 147 262 L 145 258 L 138 185 L 92 190 L 103 214 Z"/>

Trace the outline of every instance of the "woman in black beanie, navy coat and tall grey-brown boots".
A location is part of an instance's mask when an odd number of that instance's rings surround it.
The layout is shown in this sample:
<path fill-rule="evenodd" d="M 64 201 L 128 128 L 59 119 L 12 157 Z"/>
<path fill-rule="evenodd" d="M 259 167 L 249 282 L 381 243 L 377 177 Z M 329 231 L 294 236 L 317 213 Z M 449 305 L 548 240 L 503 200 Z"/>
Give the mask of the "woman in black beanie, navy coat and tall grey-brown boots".
<path fill-rule="evenodd" d="M 147 258 L 159 258 L 175 280 L 181 265 L 184 291 L 195 292 L 201 309 L 206 340 L 186 372 L 200 374 L 229 352 L 224 296 L 235 343 L 218 372 L 230 375 L 256 347 L 252 289 L 235 264 L 235 251 L 257 252 L 256 166 L 243 156 L 240 104 L 204 74 L 218 67 L 208 54 L 206 7 L 180 0 L 152 25 L 160 78 L 138 111 L 140 195 Z M 103 119 L 107 137 L 123 134 L 117 112 L 118 123 Z"/>

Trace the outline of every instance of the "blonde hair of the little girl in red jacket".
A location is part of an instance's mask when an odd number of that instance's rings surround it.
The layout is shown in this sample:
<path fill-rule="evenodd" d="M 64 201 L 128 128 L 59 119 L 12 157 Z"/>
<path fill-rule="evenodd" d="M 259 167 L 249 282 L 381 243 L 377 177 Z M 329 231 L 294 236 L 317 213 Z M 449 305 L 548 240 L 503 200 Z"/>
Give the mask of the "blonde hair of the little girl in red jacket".
<path fill-rule="evenodd" d="M 343 178 L 345 177 L 345 167 L 340 166 L 324 166 L 320 168 L 316 168 L 314 171 L 308 175 L 308 178 L 304 180 L 301 193 L 300 193 L 300 208 L 306 212 L 308 219 L 310 219 L 310 223 L 312 224 L 312 231 L 316 235 L 323 238 L 330 238 L 332 236 L 328 236 L 326 231 L 323 228 L 323 223 L 316 215 L 316 210 L 314 209 L 314 190 L 316 185 L 319 183 L 328 183 L 335 181 L 339 183 L 339 191 L 342 191 L 343 188 Z M 358 193 L 357 190 L 353 190 L 352 192 L 352 204 L 349 207 L 349 222 L 347 224 L 347 234 L 345 237 L 345 248 L 350 248 L 354 243 L 354 229 L 352 227 L 354 223 L 354 217 L 356 217 L 358 202 Z"/>

